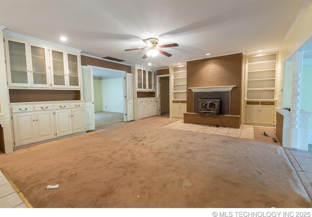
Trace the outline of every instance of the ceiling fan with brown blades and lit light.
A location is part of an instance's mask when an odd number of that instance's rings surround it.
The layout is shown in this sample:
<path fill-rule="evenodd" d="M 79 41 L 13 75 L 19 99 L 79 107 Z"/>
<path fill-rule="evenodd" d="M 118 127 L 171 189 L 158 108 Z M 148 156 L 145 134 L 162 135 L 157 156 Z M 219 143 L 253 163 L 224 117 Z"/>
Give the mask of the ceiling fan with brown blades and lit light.
<path fill-rule="evenodd" d="M 172 43 L 172 44 L 163 44 L 163 45 L 158 45 L 158 39 L 155 38 L 149 38 L 149 39 L 142 39 L 144 43 L 147 44 L 148 47 L 143 47 L 143 48 L 134 48 L 134 49 L 126 49 L 125 51 L 133 51 L 133 50 L 143 50 L 147 49 L 146 54 L 142 57 L 142 59 L 147 58 L 148 56 L 150 57 L 156 57 L 159 53 L 163 54 L 167 57 L 171 57 L 172 54 L 167 53 L 166 51 L 161 50 L 160 48 L 166 48 L 166 47 L 177 47 L 179 46 L 177 43 Z"/>

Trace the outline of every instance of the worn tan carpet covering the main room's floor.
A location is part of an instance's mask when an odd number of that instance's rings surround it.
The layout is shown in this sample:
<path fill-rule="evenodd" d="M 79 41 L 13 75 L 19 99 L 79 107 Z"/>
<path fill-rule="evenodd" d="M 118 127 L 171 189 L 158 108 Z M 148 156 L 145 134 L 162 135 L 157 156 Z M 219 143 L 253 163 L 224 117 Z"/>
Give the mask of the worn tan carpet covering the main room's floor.
<path fill-rule="evenodd" d="M 172 121 L 22 148 L 0 167 L 34 207 L 312 207 L 281 146 L 161 127 Z"/>

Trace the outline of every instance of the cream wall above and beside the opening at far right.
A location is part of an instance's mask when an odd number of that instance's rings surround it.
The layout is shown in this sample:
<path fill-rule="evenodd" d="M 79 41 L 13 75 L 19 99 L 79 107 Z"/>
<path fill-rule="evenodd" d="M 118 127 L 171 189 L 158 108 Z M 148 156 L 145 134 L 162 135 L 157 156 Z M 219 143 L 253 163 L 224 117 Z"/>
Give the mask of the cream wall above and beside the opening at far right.
<path fill-rule="evenodd" d="M 292 28 L 284 43 L 279 48 L 278 55 L 278 83 L 277 83 L 277 107 L 282 106 L 282 87 L 284 81 L 284 62 L 308 39 L 312 37 L 312 2 L 310 2 L 301 18 Z"/>

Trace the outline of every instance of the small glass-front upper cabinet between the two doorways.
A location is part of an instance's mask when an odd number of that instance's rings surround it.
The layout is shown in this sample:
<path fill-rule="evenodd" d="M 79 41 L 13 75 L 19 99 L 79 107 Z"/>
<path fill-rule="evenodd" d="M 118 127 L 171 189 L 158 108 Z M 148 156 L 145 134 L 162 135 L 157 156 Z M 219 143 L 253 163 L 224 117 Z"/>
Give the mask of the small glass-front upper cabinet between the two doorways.
<path fill-rule="evenodd" d="M 136 89 L 137 91 L 155 91 L 153 70 L 136 67 Z"/>

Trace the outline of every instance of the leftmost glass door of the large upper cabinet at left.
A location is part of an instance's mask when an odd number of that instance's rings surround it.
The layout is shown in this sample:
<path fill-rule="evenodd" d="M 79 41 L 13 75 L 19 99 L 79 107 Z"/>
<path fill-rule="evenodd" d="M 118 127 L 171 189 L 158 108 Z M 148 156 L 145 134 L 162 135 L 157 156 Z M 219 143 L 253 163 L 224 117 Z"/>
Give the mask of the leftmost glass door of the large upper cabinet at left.
<path fill-rule="evenodd" d="M 30 86 L 29 70 L 27 69 L 27 50 L 26 44 L 18 41 L 8 40 L 8 69 L 9 85 L 11 86 Z"/>

